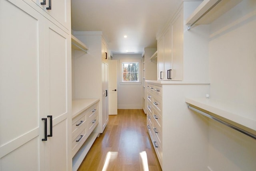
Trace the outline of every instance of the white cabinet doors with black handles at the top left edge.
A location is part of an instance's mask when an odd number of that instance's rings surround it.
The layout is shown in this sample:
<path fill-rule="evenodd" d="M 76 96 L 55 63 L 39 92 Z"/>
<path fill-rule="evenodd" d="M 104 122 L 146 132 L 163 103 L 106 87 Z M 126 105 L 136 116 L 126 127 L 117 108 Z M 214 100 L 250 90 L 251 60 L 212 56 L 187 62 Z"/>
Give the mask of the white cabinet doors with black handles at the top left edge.
<path fill-rule="evenodd" d="M 26 0 L 28 1 L 28 0 Z M 66 29 L 70 30 L 70 0 L 32 0 Z M 28 2 L 29 3 L 29 2 Z M 47 16 L 46 16 L 47 17 Z M 54 22 L 54 21 L 52 21 Z"/>

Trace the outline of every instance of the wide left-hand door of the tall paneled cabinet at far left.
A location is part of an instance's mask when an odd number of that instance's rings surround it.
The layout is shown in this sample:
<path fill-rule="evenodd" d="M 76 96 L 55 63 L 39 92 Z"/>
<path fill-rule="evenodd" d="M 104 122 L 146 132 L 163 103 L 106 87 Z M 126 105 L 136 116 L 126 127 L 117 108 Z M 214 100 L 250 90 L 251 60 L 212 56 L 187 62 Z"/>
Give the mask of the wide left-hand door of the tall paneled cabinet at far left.
<path fill-rule="evenodd" d="M 42 19 L 24 1 L 0 0 L 0 171 L 44 171 Z"/>

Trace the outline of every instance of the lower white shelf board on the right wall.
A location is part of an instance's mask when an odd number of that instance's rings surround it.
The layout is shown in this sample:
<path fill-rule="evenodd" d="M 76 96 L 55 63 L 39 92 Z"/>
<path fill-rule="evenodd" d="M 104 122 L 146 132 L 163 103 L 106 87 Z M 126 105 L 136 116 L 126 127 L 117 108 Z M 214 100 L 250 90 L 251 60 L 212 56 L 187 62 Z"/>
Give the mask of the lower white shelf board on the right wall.
<path fill-rule="evenodd" d="M 211 99 L 211 98 L 186 98 L 188 104 L 206 110 L 206 113 L 228 124 L 232 124 L 242 130 L 256 135 L 256 119 L 246 118 L 241 114 L 248 112 L 248 108 L 228 104 L 228 102 Z M 255 112 L 253 110 L 249 112 Z"/>

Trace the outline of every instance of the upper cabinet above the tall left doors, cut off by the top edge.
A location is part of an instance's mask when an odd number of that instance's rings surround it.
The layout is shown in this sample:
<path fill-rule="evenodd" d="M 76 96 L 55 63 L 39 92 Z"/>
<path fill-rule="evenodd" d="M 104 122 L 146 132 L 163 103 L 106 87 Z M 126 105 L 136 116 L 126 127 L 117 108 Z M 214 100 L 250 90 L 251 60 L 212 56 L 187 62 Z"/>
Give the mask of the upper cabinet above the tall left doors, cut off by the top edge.
<path fill-rule="evenodd" d="M 52 22 L 57 21 L 57 26 L 63 28 L 64 31 L 71 31 L 70 0 L 30 0 L 26 2 Z"/>

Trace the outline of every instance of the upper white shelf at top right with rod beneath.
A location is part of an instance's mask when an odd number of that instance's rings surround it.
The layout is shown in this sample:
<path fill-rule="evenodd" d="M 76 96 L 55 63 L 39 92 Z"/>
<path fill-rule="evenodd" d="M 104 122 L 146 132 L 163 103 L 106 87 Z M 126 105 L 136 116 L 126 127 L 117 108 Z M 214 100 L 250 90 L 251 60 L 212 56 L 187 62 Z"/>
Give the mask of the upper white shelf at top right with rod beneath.
<path fill-rule="evenodd" d="M 210 24 L 242 0 L 204 0 L 186 20 L 186 25 Z"/>

